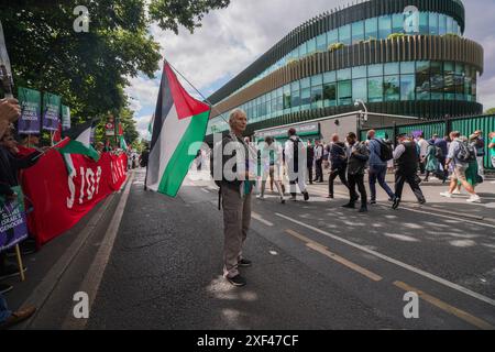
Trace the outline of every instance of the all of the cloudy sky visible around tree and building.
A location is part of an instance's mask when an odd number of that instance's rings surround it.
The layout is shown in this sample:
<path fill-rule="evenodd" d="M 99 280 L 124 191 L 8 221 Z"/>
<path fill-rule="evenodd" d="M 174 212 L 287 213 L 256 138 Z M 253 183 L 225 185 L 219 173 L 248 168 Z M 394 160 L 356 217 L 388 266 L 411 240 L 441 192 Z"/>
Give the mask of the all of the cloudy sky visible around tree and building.
<path fill-rule="evenodd" d="M 495 107 L 495 1 L 463 2 L 466 8 L 464 36 L 485 48 L 485 73 L 479 81 L 479 100 L 488 109 Z M 156 26 L 152 28 L 152 34 L 162 46 L 162 55 L 208 97 L 294 28 L 348 3 L 349 0 L 231 0 L 229 8 L 205 16 L 202 28 L 193 35 L 186 30 L 175 35 Z M 161 72 L 155 79 L 138 77 L 128 88 L 142 135 L 155 108 Z M 190 92 L 194 94 L 191 89 Z"/>

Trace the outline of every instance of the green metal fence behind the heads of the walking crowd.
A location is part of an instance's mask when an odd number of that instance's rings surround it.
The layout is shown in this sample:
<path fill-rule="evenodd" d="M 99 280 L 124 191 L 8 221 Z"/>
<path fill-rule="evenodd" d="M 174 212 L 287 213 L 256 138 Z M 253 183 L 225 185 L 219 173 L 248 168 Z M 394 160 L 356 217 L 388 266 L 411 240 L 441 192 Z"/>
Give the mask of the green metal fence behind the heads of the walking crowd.
<path fill-rule="evenodd" d="M 494 169 L 488 151 L 488 134 L 490 132 L 495 132 L 495 114 L 446 119 L 441 121 L 424 121 L 421 123 L 392 125 L 374 130 L 376 131 L 377 135 L 385 135 L 393 141 L 395 141 L 396 135 L 402 133 L 414 134 L 415 132 L 419 133 L 419 131 L 421 131 L 425 135 L 425 139 L 429 140 L 433 136 L 433 134 L 443 136 L 451 131 L 459 131 L 462 135 L 469 136 L 474 131 L 481 130 L 483 131 L 483 138 L 485 140 L 486 147 L 484 166 L 485 168 Z M 360 135 L 362 141 L 366 139 L 367 131 L 370 131 L 370 129 L 361 130 Z"/>

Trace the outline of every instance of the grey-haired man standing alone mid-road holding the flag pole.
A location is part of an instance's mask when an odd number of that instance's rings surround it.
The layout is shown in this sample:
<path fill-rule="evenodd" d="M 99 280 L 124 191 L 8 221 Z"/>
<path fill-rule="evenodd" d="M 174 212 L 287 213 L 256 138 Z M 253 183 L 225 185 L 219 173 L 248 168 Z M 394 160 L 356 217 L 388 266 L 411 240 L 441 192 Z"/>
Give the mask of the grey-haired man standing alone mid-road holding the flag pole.
<path fill-rule="evenodd" d="M 230 133 L 223 138 L 221 145 L 215 146 L 211 165 L 216 183 L 220 186 L 223 206 L 223 276 L 234 286 L 244 286 L 246 280 L 241 276 L 239 267 L 252 265 L 251 261 L 242 256 L 242 248 L 251 223 L 251 195 L 254 188 L 251 179 L 255 179 L 255 175 L 250 166 L 253 165 L 256 155 L 250 154 L 250 146 L 242 139 L 248 125 L 245 112 L 240 109 L 232 111 L 229 125 Z M 223 151 L 232 148 L 233 153 L 224 155 Z M 232 164 L 232 158 L 244 162 L 245 167 L 238 169 L 238 164 Z M 228 166 L 231 168 L 227 170 L 226 164 L 232 165 Z M 219 172 L 221 179 L 217 179 Z M 226 175 L 227 172 L 232 175 Z"/>

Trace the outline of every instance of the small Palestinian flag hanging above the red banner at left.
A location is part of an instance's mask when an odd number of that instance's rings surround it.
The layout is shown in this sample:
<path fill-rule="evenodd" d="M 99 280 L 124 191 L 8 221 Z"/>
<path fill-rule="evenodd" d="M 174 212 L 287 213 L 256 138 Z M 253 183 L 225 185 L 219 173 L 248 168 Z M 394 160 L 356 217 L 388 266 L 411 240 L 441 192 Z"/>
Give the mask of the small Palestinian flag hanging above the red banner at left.
<path fill-rule="evenodd" d="M 68 130 L 66 132 L 68 142 L 61 144 L 59 147 L 57 147 L 58 152 L 62 154 L 82 154 L 89 156 L 95 162 L 98 162 L 100 155 L 90 144 L 92 124 L 94 121 L 91 120 Z"/>

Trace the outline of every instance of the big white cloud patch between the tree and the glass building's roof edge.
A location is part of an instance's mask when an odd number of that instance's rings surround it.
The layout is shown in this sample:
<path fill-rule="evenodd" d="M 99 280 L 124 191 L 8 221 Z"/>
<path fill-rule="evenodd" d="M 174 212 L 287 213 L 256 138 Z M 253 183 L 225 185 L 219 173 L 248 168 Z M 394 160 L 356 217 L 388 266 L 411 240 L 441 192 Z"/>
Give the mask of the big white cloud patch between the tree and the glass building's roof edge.
<path fill-rule="evenodd" d="M 265 53 L 290 30 L 309 18 L 343 1 L 312 0 L 233 0 L 229 8 L 213 11 L 195 34 L 164 33 L 157 26 L 152 34 L 162 46 L 162 55 L 202 94 L 220 79 L 232 78 Z"/>

